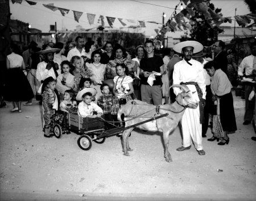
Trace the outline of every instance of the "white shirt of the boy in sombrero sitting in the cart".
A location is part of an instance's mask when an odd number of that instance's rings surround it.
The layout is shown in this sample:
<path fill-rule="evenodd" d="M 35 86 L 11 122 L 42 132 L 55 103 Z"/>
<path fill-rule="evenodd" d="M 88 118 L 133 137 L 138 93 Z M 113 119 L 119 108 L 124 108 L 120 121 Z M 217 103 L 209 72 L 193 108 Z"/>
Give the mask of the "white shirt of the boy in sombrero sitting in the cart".
<path fill-rule="evenodd" d="M 78 114 L 80 117 L 93 115 L 93 112 L 97 112 L 97 114 L 103 114 L 103 110 L 94 102 L 91 102 L 90 105 L 87 105 L 84 101 L 80 102 L 78 106 Z"/>

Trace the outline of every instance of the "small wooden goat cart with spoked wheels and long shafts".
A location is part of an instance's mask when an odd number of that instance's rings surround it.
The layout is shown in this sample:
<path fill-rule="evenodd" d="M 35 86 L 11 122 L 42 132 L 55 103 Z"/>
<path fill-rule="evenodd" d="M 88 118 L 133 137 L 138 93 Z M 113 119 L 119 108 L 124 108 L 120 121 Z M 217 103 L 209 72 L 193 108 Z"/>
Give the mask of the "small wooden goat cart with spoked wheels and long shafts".
<path fill-rule="evenodd" d="M 98 144 L 102 144 L 105 142 L 107 136 L 119 134 L 119 132 L 130 129 L 131 127 L 136 127 L 142 125 L 143 123 L 147 123 L 166 116 L 168 116 L 168 113 L 147 119 L 146 121 L 135 123 L 131 126 L 116 126 L 114 129 L 105 130 L 106 121 L 104 121 L 102 118 L 82 118 L 77 114 L 68 113 L 68 127 L 70 131 L 81 135 L 79 139 L 77 139 L 77 144 L 82 150 L 87 151 L 92 147 L 92 141 Z M 56 138 L 61 137 L 62 129 L 58 123 L 53 125 L 53 133 L 55 134 Z"/>

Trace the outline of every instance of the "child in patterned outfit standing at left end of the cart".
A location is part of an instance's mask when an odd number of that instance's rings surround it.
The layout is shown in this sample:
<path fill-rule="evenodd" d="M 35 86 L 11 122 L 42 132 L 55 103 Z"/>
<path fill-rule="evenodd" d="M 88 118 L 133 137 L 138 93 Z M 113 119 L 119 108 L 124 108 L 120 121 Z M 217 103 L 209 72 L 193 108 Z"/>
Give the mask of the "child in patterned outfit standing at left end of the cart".
<path fill-rule="evenodd" d="M 55 114 L 55 110 L 58 110 L 58 97 L 55 92 L 56 80 L 52 77 L 48 77 L 43 82 L 42 87 L 42 99 L 43 99 L 43 118 L 44 118 L 44 136 L 49 138 L 52 136 L 51 122 Z"/>

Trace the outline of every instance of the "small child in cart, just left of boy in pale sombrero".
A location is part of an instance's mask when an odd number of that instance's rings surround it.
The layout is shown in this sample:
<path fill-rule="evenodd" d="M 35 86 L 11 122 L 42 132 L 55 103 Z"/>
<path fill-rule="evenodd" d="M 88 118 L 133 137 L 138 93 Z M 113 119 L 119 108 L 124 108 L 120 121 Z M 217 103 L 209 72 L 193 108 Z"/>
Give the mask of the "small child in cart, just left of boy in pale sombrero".
<path fill-rule="evenodd" d="M 77 110 L 77 102 L 74 100 L 74 92 L 72 90 L 66 90 L 64 93 L 64 100 L 60 102 L 60 110 L 73 113 Z"/>

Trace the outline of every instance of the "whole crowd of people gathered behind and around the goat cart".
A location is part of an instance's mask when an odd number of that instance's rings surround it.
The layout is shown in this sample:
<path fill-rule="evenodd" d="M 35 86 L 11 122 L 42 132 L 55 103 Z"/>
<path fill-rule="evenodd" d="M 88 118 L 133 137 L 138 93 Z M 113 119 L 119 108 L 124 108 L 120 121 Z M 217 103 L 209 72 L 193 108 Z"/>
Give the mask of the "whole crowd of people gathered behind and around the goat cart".
<path fill-rule="evenodd" d="M 214 42 L 211 52 L 197 41 L 184 41 L 156 54 L 151 40 L 130 52 L 110 41 L 102 49 L 96 49 L 94 41 L 85 42 L 77 36 L 75 42 L 49 42 L 42 50 L 32 41 L 20 55 L 18 46 L 11 44 L 10 52 L 0 106 L 6 104 L 3 100 L 11 101 L 11 112 L 21 113 L 22 101 L 26 101 L 23 105 L 32 105 L 32 98 L 36 97 L 43 105 L 46 137 L 52 136 L 53 119 L 62 119 L 63 131 L 70 133 L 65 122 L 67 113 L 91 118 L 104 115 L 107 121 L 115 122 L 119 108 L 126 102 L 138 99 L 160 105 L 164 97 L 163 104 L 170 104 L 181 92 L 179 88 L 169 89 L 170 86 L 185 84 L 199 101 L 199 107 L 185 110 L 181 120 L 183 143 L 177 151 L 189 149 L 194 143 L 199 155 L 205 155 L 202 138 L 206 137 L 209 120 L 213 136 L 208 140 L 221 140 L 218 145 L 229 144 L 228 134 L 237 130 L 231 92 L 237 77 L 245 85 L 243 125 L 251 123 L 256 107 L 255 42 L 251 44 L 251 55 L 239 66 L 234 52 L 225 51 L 222 41 Z M 217 132 L 218 119 L 223 130 L 221 135 Z"/>

